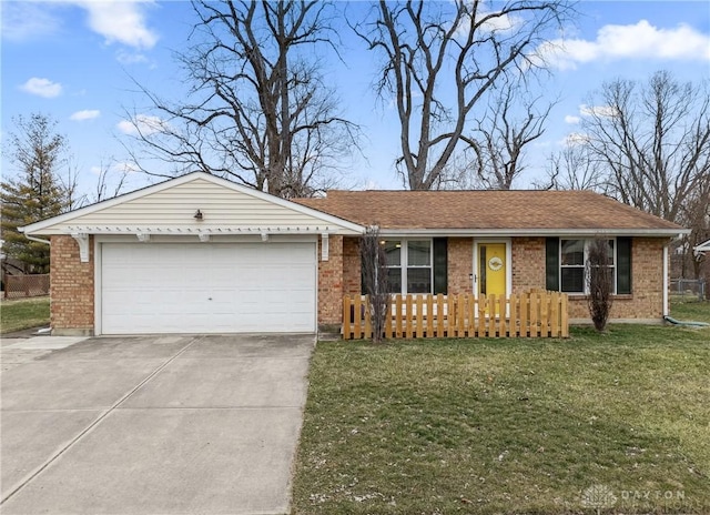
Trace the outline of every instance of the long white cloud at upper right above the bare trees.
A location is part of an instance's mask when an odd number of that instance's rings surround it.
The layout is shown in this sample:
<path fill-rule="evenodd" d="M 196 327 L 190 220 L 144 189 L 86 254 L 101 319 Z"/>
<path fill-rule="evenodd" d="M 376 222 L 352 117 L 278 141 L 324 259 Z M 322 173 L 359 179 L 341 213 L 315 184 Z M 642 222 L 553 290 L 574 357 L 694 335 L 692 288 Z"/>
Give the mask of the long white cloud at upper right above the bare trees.
<path fill-rule="evenodd" d="M 560 70 L 596 60 L 661 59 L 710 61 L 710 36 L 681 23 L 662 29 L 640 20 L 629 26 L 604 26 L 597 39 L 555 39 L 542 43 L 536 57 Z"/>

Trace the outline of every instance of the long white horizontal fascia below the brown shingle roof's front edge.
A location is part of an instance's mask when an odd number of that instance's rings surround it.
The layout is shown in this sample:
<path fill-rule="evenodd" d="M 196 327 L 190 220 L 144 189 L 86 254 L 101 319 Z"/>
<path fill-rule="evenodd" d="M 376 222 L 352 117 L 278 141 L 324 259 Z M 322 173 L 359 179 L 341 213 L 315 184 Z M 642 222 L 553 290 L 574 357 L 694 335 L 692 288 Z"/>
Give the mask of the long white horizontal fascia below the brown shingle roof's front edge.
<path fill-rule="evenodd" d="M 382 236 L 658 236 L 677 238 L 690 234 L 688 229 L 382 229 Z"/>

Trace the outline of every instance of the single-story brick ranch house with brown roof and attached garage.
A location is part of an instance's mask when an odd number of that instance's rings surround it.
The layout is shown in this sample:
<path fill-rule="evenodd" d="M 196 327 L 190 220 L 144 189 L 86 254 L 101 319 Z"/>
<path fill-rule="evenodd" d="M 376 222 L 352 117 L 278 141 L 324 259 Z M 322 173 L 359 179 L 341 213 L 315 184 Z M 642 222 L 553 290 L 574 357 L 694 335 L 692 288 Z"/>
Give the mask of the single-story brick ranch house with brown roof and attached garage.
<path fill-rule="evenodd" d="M 585 191 L 332 191 L 287 201 L 191 173 L 24 228 L 51 239 L 54 334 L 315 332 L 361 294 L 381 229 L 397 293 L 570 294 L 588 319 L 588 242 L 609 240 L 612 319 L 659 321 L 686 230 Z"/>

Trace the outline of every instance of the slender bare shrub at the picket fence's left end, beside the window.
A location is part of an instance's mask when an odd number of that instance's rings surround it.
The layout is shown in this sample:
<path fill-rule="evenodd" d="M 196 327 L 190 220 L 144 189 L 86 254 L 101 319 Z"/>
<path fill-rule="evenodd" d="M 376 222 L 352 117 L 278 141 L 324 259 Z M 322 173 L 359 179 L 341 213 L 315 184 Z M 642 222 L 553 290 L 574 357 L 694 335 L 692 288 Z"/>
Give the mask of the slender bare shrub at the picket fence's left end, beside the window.
<path fill-rule="evenodd" d="M 363 285 L 369 297 L 369 315 L 375 343 L 382 342 L 390 305 L 387 290 L 387 258 L 379 240 L 377 226 L 368 228 L 359 240 Z"/>

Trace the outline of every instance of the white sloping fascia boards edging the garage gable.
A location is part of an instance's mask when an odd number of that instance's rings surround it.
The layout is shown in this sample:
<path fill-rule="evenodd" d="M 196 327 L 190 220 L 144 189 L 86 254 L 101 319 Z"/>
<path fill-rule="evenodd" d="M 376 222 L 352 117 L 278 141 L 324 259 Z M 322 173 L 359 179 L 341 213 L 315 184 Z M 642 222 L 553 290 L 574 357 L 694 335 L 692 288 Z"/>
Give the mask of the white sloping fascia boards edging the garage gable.
<path fill-rule="evenodd" d="M 281 199 L 278 196 L 274 196 L 270 193 L 264 193 L 263 191 L 254 190 L 253 188 L 244 186 L 242 184 L 236 184 L 235 182 L 232 182 L 215 175 L 211 175 L 205 172 L 192 172 L 175 179 L 169 179 L 159 184 L 145 186 L 130 193 L 124 193 L 122 195 L 114 196 L 113 199 L 109 199 L 103 202 L 98 202 L 95 204 L 87 205 L 84 208 L 70 211 L 69 213 L 60 214 L 59 216 L 53 216 L 51 219 L 42 220 L 40 222 L 36 222 L 30 225 L 26 225 L 23 228 L 18 228 L 18 229 L 20 232 L 23 232 L 24 234 L 49 234 L 49 235 L 65 234 L 67 232 L 61 230 L 51 231 L 51 232 L 42 232 L 42 231 L 44 231 L 47 228 L 50 228 L 52 225 L 71 222 L 72 220 L 79 216 L 95 213 L 98 211 L 109 209 L 113 205 L 118 205 L 124 202 L 130 202 L 132 200 L 140 199 L 142 196 L 146 196 L 153 193 L 158 193 L 158 192 L 168 190 L 170 188 L 185 184 L 187 182 L 195 181 L 195 180 L 205 180 L 205 181 L 212 182 L 213 184 L 217 184 L 217 185 L 231 189 L 233 191 L 244 193 L 246 195 L 251 195 L 256 199 L 264 200 L 266 202 L 271 202 L 275 205 L 280 205 L 280 206 L 290 209 L 292 211 L 306 214 L 308 216 L 313 216 L 317 220 L 322 220 L 325 223 L 335 225 L 335 228 L 333 228 L 334 230 L 332 231 L 334 234 L 337 234 L 337 233 L 363 234 L 365 232 L 365 228 L 356 223 L 348 222 L 347 220 L 323 213 L 322 211 L 306 208 L 305 205 L 296 204 L 295 202 L 291 202 L 288 200 Z"/>

